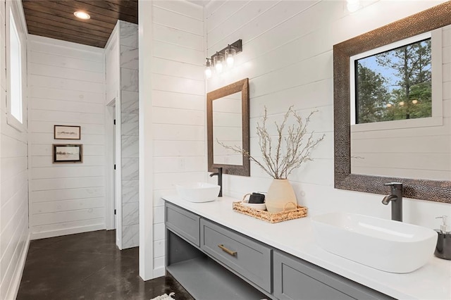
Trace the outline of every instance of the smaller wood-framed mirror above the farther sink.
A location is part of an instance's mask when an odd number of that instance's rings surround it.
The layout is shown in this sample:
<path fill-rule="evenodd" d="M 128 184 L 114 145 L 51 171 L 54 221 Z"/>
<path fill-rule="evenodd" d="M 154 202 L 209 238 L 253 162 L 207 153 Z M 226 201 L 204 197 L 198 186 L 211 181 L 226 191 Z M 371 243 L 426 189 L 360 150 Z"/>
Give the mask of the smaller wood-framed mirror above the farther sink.
<path fill-rule="evenodd" d="M 249 158 L 228 150 L 219 142 L 249 152 L 249 79 L 245 78 L 206 94 L 208 170 L 250 176 Z"/>

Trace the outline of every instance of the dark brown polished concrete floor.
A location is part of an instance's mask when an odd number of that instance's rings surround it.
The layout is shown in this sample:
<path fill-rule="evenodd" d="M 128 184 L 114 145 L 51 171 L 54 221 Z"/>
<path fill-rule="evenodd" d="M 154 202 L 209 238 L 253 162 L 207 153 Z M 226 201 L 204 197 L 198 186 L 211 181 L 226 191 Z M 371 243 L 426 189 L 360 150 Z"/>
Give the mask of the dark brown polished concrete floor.
<path fill-rule="evenodd" d="M 142 281 L 138 248 L 119 251 L 115 239 L 99 230 L 31 241 L 17 299 L 193 299 L 171 275 Z"/>

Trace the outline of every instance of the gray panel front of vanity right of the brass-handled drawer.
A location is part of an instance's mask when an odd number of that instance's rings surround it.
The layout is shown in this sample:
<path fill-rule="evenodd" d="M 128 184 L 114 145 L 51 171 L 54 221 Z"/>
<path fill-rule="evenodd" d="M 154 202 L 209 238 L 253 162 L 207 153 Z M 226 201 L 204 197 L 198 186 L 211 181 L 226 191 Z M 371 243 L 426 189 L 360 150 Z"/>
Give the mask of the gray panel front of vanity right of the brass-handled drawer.
<path fill-rule="evenodd" d="M 274 296 L 278 299 L 393 299 L 283 252 L 274 252 L 273 264 Z"/>

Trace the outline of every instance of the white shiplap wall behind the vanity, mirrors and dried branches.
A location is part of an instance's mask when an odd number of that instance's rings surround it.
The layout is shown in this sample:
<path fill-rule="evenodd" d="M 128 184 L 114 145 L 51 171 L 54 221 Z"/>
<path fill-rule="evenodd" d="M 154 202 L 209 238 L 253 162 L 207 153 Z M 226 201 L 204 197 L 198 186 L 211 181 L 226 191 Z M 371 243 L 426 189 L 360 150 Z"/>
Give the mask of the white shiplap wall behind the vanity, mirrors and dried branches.
<path fill-rule="evenodd" d="M 233 70 L 208 80 L 207 90 L 249 77 L 254 156 L 260 156 L 255 127 L 264 106 L 268 108 L 268 124 L 280 120 L 293 104 L 302 115 L 318 109 L 309 130 L 326 137 L 312 151 L 314 161 L 289 178 L 299 203 L 308 206 L 311 215 L 350 211 L 390 218 L 390 207 L 381 204 L 381 195 L 333 188 L 332 48 L 440 2 L 367 1 L 364 8 L 350 14 L 345 1 L 209 1 L 205 7 L 208 56 L 237 39 L 242 39 L 243 51 L 237 55 Z M 449 86 L 444 87 L 445 99 L 449 99 L 449 91 Z M 251 175 L 225 175 L 225 193 L 239 199 L 243 194 L 268 189 L 271 178 L 254 164 Z M 404 220 L 409 223 L 433 228 L 438 225 L 433 217 L 444 212 L 450 215 L 450 204 L 404 201 Z"/>

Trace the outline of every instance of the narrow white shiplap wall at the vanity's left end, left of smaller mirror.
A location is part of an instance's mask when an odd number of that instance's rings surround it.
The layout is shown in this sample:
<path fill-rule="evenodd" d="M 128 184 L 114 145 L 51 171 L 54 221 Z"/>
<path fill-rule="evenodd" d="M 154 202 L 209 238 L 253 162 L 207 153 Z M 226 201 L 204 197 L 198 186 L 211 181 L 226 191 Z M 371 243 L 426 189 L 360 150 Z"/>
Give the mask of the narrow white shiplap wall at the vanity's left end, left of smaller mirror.
<path fill-rule="evenodd" d="M 179 182 L 206 180 L 205 53 L 202 6 L 154 1 L 152 11 L 153 265 L 158 277 L 164 275 L 165 250 L 161 194 Z"/>

